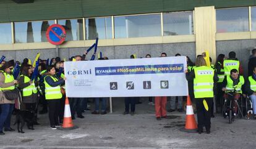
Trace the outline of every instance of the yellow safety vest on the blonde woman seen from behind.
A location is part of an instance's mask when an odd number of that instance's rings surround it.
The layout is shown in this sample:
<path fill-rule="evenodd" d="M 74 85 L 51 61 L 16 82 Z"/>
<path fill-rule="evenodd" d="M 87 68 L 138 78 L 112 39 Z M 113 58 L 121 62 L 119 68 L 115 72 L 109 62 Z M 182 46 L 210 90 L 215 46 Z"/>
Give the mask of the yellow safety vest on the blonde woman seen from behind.
<path fill-rule="evenodd" d="M 195 98 L 213 97 L 214 70 L 208 66 L 194 68 L 194 94 Z"/>

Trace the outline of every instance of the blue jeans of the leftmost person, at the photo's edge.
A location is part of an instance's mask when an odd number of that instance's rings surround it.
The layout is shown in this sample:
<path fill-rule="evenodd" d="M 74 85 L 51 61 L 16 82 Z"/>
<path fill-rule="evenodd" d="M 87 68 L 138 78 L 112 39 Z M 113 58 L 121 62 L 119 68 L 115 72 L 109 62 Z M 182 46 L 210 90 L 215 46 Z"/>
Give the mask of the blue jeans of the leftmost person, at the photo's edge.
<path fill-rule="evenodd" d="M 2 128 L 9 128 L 11 125 L 12 111 L 14 110 L 14 104 L 4 103 L 0 104 L 1 114 L 0 114 L 0 131 Z"/>

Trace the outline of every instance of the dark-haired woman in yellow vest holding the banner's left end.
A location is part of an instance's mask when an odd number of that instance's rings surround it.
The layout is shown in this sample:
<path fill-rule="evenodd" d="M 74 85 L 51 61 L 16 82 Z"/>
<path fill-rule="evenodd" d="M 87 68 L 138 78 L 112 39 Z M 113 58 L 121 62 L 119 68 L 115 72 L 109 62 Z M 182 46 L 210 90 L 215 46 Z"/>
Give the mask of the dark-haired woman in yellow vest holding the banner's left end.
<path fill-rule="evenodd" d="M 62 98 L 61 85 L 64 84 L 64 79 L 59 79 L 56 77 L 55 68 L 53 65 L 48 66 L 47 75 L 45 77 L 45 99 L 48 101 L 49 107 L 49 121 L 51 129 L 56 129 L 60 127 L 59 124 L 59 102 Z"/>

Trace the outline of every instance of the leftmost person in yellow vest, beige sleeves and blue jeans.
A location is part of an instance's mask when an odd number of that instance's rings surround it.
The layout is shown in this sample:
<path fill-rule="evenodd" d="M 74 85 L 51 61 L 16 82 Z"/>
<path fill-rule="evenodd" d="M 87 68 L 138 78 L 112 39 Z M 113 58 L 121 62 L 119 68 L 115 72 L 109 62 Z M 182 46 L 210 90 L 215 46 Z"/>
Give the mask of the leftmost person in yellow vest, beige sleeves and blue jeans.
<path fill-rule="evenodd" d="M 14 100 L 7 100 L 4 97 L 3 91 L 15 89 L 15 84 L 18 83 L 17 80 L 12 76 L 12 69 L 14 65 L 9 62 L 6 62 L 0 70 L 0 135 L 4 135 L 4 131 L 15 131 L 10 127 L 11 125 L 11 116 L 12 111 L 14 110 Z"/>

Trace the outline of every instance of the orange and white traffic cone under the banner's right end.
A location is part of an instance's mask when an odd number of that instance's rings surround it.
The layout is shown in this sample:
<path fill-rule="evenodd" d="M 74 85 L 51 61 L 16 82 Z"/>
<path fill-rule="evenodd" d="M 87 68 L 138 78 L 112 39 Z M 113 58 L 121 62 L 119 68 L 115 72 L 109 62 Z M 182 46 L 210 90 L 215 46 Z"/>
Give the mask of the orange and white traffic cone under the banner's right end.
<path fill-rule="evenodd" d="M 195 115 L 189 95 L 187 96 L 186 125 L 183 130 L 187 132 L 197 131 L 197 122 L 195 121 Z"/>

